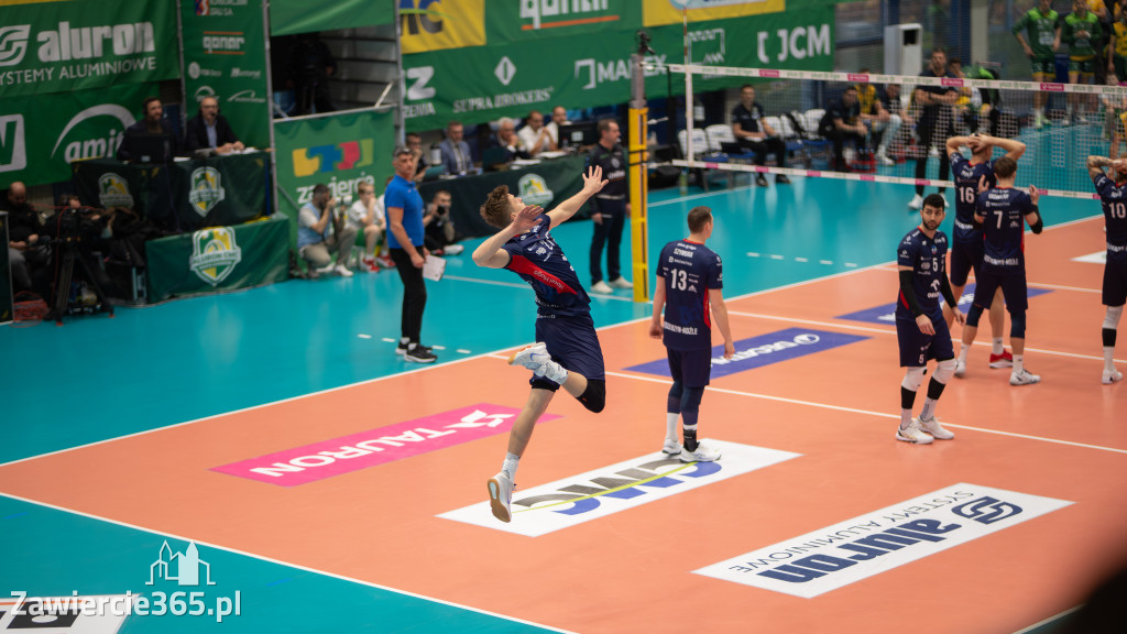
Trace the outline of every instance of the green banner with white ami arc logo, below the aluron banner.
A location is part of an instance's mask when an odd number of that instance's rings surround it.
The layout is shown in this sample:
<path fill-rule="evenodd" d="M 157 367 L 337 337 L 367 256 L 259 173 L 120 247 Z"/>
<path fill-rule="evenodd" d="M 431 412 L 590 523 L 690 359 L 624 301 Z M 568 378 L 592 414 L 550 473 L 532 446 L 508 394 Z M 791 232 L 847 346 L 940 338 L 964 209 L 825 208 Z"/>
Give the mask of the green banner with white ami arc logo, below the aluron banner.
<path fill-rule="evenodd" d="M 73 161 L 113 157 L 157 85 L 0 99 L 0 188 L 70 179 Z"/>

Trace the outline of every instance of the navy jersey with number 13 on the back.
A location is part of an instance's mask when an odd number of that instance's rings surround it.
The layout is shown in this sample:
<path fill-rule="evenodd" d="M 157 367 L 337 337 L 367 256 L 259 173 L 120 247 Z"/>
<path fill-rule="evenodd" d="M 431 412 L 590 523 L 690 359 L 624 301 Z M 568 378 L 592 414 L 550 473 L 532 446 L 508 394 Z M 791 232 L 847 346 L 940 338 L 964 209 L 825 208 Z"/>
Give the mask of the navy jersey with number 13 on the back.
<path fill-rule="evenodd" d="M 700 243 L 674 240 L 662 249 L 658 276 L 665 280 L 665 332 L 669 350 L 712 347 L 709 289 L 724 288 L 720 256 Z"/>

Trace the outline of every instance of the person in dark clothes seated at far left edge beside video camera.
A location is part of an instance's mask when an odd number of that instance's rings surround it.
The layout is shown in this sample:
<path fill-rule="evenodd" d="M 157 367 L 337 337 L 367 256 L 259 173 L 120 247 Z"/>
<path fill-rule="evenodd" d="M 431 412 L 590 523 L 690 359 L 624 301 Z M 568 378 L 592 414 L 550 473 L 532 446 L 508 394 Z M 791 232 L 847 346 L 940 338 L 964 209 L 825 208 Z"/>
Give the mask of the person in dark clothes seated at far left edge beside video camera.
<path fill-rule="evenodd" d="M 47 297 L 46 274 L 51 246 L 39 214 L 27 204 L 27 187 L 16 180 L 0 199 L 0 211 L 8 212 L 8 261 L 17 291 L 37 290 Z"/>

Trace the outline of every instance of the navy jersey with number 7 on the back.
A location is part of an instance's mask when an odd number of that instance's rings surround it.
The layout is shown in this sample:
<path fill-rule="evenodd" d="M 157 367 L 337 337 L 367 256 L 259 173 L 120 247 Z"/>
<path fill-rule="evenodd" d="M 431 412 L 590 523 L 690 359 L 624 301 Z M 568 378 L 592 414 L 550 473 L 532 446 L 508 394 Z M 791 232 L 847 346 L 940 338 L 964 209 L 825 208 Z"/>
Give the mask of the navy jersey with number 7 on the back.
<path fill-rule="evenodd" d="M 1024 271 L 1026 214 L 1033 211 L 1029 192 L 996 187 L 978 194 L 976 205 L 984 217 L 983 266 L 995 272 Z"/>

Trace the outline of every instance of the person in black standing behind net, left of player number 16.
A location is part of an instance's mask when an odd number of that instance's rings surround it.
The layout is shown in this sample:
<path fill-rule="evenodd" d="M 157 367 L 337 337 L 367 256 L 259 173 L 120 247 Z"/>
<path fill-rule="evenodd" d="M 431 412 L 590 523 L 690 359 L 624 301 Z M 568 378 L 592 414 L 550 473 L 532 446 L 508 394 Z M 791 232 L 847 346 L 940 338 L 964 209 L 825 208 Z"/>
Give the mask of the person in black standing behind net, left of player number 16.
<path fill-rule="evenodd" d="M 947 69 L 947 53 L 934 49 L 928 68 L 920 77 L 946 77 L 955 79 Z M 920 155 L 916 157 L 915 177 L 923 180 L 928 175 L 928 158 L 932 148 L 947 147 L 947 138 L 951 133 L 951 104 L 959 98 L 959 93 L 950 86 L 916 86 L 912 100 L 920 108 L 916 134 L 920 138 Z M 951 173 L 951 161 L 947 152 L 939 152 L 939 179 L 947 180 Z M 943 193 L 940 187 L 939 193 Z M 916 185 L 915 196 L 908 203 L 912 209 L 923 208 L 923 185 Z"/>

